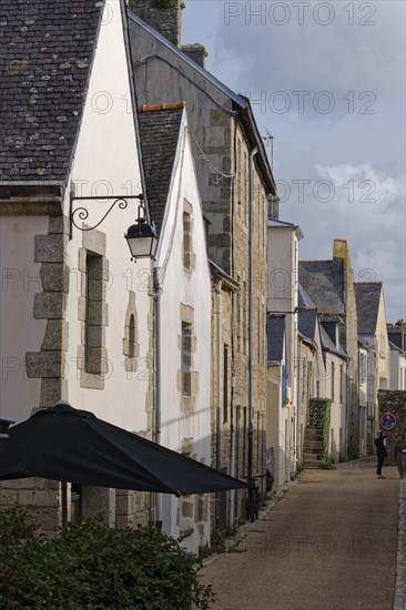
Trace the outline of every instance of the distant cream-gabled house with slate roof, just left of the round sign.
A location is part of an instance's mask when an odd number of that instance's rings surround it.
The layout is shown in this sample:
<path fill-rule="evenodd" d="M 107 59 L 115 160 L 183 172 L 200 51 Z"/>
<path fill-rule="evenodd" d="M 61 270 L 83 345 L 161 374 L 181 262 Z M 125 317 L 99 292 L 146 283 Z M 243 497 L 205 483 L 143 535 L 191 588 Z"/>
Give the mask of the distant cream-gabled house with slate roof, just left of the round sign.
<path fill-rule="evenodd" d="M 373 439 L 378 430 L 377 393 L 379 389 L 389 389 L 390 386 L 390 349 L 384 288 L 382 282 L 355 282 L 354 291 L 357 305 L 358 337 L 366 339 L 375 350 L 375 369 L 371 372 L 375 377 L 375 413 L 374 419 L 368 420 L 367 433 Z"/>

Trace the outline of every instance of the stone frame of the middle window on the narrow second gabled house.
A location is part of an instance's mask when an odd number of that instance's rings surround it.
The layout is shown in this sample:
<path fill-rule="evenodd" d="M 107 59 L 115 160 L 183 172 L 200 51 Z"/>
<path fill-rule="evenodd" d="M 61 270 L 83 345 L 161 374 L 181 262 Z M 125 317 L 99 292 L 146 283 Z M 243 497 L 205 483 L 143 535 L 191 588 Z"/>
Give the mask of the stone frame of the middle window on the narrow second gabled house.
<path fill-rule="evenodd" d="M 180 352 L 180 368 L 177 369 L 177 390 L 180 407 L 182 413 L 193 413 L 196 408 L 196 398 L 199 395 L 199 372 L 194 369 L 194 354 L 196 353 L 197 339 L 194 336 L 194 308 L 190 305 L 180 305 L 180 329 L 181 333 L 177 336 L 177 347 Z M 187 325 L 191 328 L 190 336 L 190 369 L 187 375 L 187 394 L 184 393 L 184 368 L 182 367 L 182 325 Z"/>

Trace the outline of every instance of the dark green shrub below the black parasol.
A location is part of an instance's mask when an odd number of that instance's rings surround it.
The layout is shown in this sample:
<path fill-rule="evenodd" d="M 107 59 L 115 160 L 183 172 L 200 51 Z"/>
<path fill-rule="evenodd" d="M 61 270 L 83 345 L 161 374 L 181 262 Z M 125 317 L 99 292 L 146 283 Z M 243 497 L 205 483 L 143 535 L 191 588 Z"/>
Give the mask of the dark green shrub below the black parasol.
<path fill-rule="evenodd" d="M 0 608 L 47 610 L 206 610 L 211 587 L 199 559 L 152 528 L 95 520 L 35 536 L 20 509 L 0 510 Z"/>

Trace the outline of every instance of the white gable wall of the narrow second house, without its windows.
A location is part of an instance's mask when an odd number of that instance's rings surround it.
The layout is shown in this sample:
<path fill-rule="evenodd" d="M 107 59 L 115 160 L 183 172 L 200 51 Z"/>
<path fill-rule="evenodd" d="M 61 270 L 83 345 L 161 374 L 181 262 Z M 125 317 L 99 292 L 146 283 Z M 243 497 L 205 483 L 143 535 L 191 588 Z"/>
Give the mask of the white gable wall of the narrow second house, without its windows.
<path fill-rule="evenodd" d="M 195 177 L 190 138 L 185 133 L 186 113 L 180 130 L 180 143 L 174 162 L 166 212 L 162 225 L 156 265 L 162 282 L 161 345 L 162 345 L 162 445 L 181 451 L 182 438 L 193 438 L 193 454 L 199 461 L 211 466 L 211 278 L 205 247 L 205 232 L 201 200 Z M 183 271 L 183 202 L 193 206 L 193 252 L 196 257 L 194 271 Z M 180 408 L 177 372 L 181 368 L 180 304 L 194 309 L 194 336 L 197 339 L 193 356 L 193 369 L 199 372 L 199 397 L 195 413 L 185 415 Z M 177 537 L 177 509 L 180 501 L 163 497 L 164 530 Z M 183 540 L 183 546 L 196 551 L 210 539 L 210 520 L 204 532 Z"/>

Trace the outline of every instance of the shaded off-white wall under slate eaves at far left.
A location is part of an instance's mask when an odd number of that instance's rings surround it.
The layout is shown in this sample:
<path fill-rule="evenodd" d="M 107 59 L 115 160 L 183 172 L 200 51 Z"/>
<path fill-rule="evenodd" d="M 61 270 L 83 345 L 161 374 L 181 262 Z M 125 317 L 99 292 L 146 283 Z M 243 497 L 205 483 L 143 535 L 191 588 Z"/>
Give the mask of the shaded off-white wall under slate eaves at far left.
<path fill-rule="evenodd" d="M 41 265 L 34 236 L 48 233 L 48 216 L 0 216 L 0 416 L 22 421 L 40 401 L 41 379 L 26 374 L 26 352 L 39 352 L 47 322 L 34 319 Z"/>

